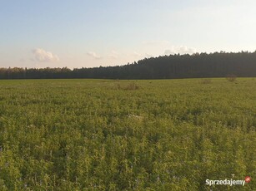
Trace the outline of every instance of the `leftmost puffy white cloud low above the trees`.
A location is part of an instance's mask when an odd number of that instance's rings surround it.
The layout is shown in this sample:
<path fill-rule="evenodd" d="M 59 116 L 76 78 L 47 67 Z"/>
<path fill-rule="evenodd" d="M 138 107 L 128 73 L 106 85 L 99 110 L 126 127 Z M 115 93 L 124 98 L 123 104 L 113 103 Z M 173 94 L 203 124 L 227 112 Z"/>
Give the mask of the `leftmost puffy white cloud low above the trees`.
<path fill-rule="evenodd" d="M 50 51 L 44 51 L 42 48 L 36 48 L 32 51 L 35 61 L 42 61 L 42 62 L 56 62 L 59 61 L 57 55 L 54 55 Z"/>

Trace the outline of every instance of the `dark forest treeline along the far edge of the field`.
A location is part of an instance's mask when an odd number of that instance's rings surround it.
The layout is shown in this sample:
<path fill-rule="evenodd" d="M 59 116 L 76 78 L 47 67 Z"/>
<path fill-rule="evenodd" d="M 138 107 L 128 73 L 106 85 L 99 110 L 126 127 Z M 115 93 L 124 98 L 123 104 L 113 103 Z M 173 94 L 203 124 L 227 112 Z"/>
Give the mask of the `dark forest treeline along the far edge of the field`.
<path fill-rule="evenodd" d="M 256 51 L 214 52 L 145 58 L 124 66 L 94 68 L 0 68 L 0 79 L 172 79 L 256 76 Z"/>

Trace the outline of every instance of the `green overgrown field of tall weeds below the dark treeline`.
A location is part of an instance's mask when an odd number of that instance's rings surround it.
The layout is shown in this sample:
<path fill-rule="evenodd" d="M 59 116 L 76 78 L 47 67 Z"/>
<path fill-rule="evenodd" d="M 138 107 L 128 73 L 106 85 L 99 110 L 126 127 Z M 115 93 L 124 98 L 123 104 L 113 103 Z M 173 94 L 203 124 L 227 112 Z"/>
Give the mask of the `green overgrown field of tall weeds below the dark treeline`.
<path fill-rule="evenodd" d="M 253 78 L 0 81 L 0 190 L 255 190 L 255 127 Z"/>

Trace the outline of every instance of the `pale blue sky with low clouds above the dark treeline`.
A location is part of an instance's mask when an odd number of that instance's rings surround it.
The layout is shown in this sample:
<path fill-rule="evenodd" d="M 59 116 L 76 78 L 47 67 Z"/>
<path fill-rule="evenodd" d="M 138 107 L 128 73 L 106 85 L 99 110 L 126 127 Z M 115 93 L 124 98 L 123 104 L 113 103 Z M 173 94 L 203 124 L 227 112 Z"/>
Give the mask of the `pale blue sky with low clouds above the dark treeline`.
<path fill-rule="evenodd" d="M 254 0 L 0 0 L 0 67 L 256 50 Z"/>

